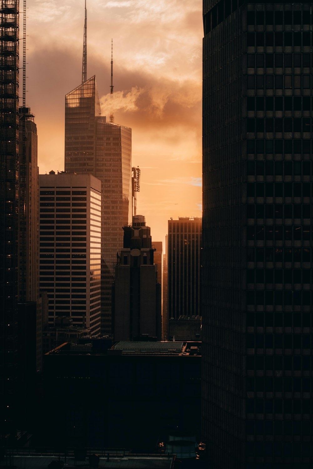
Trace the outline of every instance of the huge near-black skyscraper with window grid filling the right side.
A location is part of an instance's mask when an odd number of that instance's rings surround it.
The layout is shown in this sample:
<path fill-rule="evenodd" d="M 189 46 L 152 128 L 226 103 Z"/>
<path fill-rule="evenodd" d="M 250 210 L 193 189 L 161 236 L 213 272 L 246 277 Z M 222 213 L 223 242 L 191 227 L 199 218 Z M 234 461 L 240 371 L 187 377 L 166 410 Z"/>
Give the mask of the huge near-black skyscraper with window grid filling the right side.
<path fill-rule="evenodd" d="M 203 438 L 313 463 L 312 3 L 203 3 Z"/>

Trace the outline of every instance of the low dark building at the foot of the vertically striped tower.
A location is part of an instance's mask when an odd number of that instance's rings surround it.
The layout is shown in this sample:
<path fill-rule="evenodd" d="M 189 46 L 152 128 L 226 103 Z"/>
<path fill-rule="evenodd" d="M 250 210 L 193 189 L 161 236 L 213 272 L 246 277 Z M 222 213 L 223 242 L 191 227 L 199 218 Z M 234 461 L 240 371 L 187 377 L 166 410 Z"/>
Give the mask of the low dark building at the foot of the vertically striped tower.
<path fill-rule="evenodd" d="M 168 340 L 201 340 L 201 316 L 180 316 L 168 321 Z"/>

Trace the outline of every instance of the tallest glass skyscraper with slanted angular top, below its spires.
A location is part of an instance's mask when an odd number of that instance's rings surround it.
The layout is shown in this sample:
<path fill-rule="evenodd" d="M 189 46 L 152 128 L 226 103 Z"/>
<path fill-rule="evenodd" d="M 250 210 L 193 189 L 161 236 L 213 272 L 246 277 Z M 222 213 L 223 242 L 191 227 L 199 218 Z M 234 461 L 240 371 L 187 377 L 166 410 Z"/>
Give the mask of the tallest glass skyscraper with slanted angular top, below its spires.
<path fill-rule="evenodd" d="M 90 173 L 101 181 L 101 331 L 111 334 L 113 266 L 128 224 L 131 129 L 101 116 L 96 77 L 65 97 L 65 171 Z"/>

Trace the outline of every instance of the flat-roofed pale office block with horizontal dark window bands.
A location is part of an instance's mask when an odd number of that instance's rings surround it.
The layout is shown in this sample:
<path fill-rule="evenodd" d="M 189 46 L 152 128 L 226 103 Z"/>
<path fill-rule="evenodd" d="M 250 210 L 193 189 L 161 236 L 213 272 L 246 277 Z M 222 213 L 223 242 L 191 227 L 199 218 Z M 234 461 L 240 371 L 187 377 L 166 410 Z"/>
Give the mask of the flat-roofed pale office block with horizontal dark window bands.
<path fill-rule="evenodd" d="M 39 175 L 40 290 L 58 316 L 100 333 L 101 183 L 91 174 Z"/>

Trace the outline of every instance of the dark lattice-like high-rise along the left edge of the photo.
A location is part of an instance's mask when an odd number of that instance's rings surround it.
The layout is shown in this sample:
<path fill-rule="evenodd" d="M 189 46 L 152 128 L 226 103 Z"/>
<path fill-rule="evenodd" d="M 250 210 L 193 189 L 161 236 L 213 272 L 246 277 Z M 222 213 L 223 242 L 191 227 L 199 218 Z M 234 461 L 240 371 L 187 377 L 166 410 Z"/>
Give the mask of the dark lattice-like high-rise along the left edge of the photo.
<path fill-rule="evenodd" d="M 15 428 L 17 390 L 19 1 L 0 1 L 0 432 Z"/>

